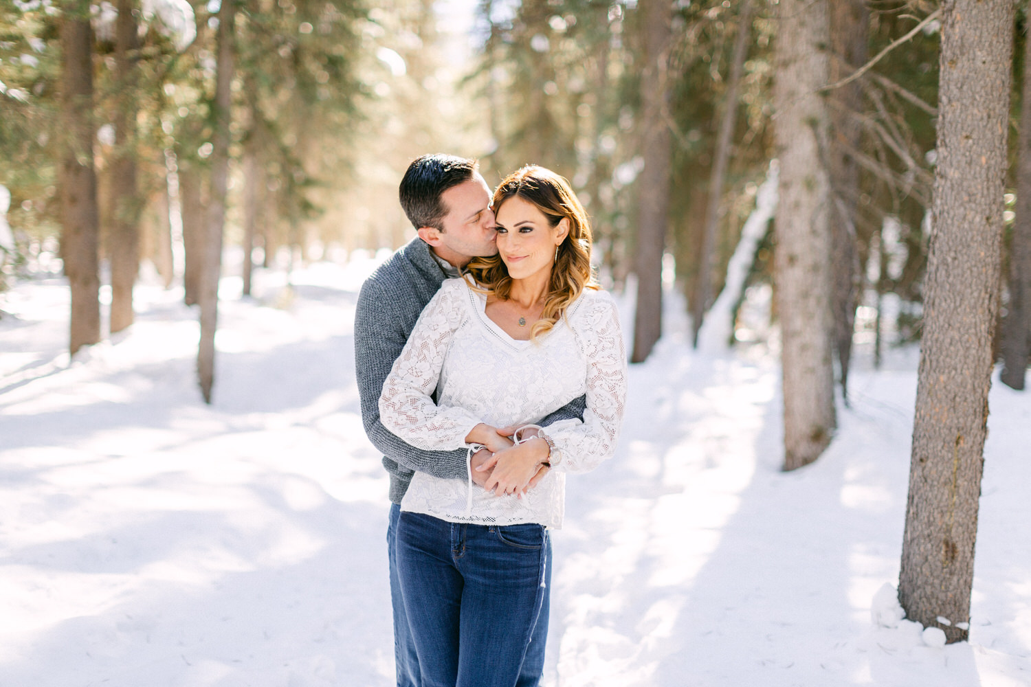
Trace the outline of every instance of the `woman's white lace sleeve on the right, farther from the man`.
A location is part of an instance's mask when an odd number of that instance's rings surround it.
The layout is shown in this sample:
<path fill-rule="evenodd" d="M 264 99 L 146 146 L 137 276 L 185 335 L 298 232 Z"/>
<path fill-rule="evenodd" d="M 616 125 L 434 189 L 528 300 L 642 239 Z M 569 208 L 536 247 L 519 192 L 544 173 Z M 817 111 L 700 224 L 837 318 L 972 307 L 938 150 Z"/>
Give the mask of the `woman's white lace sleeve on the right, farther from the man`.
<path fill-rule="evenodd" d="M 627 357 L 616 304 L 607 294 L 592 299 L 573 323 L 588 360 L 584 422 L 564 420 L 545 428 L 558 449 L 552 467 L 569 473 L 594 470 L 616 452 L 627 400 Z"/>

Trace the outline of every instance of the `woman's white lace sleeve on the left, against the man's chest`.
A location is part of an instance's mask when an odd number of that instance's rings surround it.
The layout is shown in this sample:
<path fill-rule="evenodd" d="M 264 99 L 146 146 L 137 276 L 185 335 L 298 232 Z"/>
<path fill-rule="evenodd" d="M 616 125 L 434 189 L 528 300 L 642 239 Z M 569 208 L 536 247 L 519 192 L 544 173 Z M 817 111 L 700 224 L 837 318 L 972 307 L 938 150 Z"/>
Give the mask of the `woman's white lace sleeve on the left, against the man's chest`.
<path fill-rule="evenodd" d="M 379 396 L 384 425 L 424 450 L 465 448 L 466 435 L 480 422 L 463 408 L 438 407 L 432 398 L 447 347 L 462 322 L 466 288 L 457 279 L 444 282 L 419 316 Z"/>

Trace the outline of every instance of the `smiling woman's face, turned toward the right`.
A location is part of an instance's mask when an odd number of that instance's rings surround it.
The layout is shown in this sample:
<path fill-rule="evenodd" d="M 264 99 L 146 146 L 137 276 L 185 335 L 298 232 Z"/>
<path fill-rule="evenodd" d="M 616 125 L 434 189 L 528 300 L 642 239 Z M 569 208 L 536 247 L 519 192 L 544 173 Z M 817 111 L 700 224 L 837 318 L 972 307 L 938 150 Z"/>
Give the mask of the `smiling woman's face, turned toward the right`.
<path fill-rule="evenodd" d="M 536 205 L 512 196 L 495 209 L 498 253 L 512 279 L 526 279 L 548 273 L 555 263 L 555 249 L 569 233 L 569 219 L 563 217 L 555 227 Z"/>

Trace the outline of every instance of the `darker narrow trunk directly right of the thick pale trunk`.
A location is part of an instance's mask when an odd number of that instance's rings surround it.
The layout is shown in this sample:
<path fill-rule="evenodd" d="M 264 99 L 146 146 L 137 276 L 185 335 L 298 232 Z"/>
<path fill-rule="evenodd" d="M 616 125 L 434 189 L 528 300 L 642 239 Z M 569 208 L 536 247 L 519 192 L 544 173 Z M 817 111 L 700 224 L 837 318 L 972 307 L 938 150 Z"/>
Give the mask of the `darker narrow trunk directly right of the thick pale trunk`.
<path fill-rule="evenodd" d="M 866 63 L 869 10 L 865 0 L 831 2 L 830 80 L 845 78 Z M 859 205 L 859 165 L 849 150 L 858 150 L 861 130 L 856 114 L 862 108 L 859 80 L 830 93 L 831 138 L 827 154 L 833 209 L 831 224 L 831 275 L 833 279 L 834 349 L 837 353 L 841 397 L 849 405 L 849 363 L 856 322 L 860 277 L 856 246 Z"/>

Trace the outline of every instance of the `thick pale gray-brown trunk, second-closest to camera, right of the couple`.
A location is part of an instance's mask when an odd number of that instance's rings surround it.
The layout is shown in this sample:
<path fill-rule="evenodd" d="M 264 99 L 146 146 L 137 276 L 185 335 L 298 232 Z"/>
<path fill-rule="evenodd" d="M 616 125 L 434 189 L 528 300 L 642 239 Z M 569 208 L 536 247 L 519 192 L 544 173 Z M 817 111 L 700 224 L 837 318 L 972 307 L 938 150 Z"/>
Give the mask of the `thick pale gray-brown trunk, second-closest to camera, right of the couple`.
<path fill-rule="evenodd" d="M 780 0 L 773 130 L 780 161 L 774 275 L 784 374 L 785 470 L 816 460 L 831 441 L 830 181 L 822 161 L 827 112 L 826 0 Z"/>

